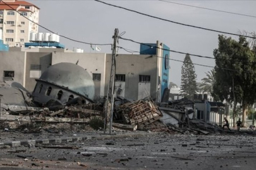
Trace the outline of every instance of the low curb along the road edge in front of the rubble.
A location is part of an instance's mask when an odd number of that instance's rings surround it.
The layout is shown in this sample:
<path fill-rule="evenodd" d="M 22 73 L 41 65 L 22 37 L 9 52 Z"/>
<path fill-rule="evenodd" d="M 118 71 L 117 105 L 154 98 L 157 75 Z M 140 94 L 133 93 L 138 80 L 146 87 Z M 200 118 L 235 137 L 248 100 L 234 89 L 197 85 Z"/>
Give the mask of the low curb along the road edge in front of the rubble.
<path fill-rule="evenodd" d="M 90 136 L 82 136 L 82 137 L 66 137 L 66 138 L 58 138 L 58 139 L 40 139 L 40 140 L 21 140 L 21 141 L 14 141 L 14 142 L 5 142 L 0 143 L 0 148 L 5 147 L 8 145 L 9 147 L 19 147 L 19 146 L 31 146 L 31 145 L 47 145 L 47 144 L 63 144 L 63 143 L 70 143 L 70 142 L 77 142 L 77 141 L 85 141 L 90 139 L 95 140 L 103 140 L 103 139 L 115 139 L 118 137 L 137 137 L 137 136 L 147 136 L 147 135 L 154 135 L 156 133 L 126 133 L 126 134 L 116 134 L 116 135 L 90 135 Z"/>

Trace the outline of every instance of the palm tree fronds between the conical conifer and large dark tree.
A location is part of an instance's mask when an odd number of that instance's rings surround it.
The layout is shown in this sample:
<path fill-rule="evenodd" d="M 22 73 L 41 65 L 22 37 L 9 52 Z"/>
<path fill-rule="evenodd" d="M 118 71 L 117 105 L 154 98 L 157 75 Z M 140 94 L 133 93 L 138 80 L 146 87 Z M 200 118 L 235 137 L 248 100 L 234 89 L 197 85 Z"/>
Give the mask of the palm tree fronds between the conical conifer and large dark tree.
<path fill-rule="evenodd" d="M 212 94 L 213 92 L 213 86 L 214 86 L 214 82 L 215 82 L 215 70 L 212 69 L 209 72 L 205 72 L 207 77 L 204 77 L 204 79 L 202 79 L 202 83 L 200 84 L 200 89 L 203 93 L 210 93 Z"/>

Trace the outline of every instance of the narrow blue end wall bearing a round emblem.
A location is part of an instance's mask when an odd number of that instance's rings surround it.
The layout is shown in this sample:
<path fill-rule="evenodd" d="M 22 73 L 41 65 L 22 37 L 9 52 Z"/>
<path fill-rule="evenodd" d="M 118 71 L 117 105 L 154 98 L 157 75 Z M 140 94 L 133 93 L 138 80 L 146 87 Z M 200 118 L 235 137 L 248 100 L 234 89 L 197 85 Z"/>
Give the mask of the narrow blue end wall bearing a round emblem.
<path fill-rule="evenodd" d="M 164 49 L 167 50 L 163 50 L 162 52 L 162 77 L 161 77 L 161 97 L 162 94 L 164 94 L 164 89 L 168 88 L 168 82 L 169 82 L 169 56 L 170 56 L 170 52 L 169 52 L 169 47 L 166 45 L 162 46 Z"/>

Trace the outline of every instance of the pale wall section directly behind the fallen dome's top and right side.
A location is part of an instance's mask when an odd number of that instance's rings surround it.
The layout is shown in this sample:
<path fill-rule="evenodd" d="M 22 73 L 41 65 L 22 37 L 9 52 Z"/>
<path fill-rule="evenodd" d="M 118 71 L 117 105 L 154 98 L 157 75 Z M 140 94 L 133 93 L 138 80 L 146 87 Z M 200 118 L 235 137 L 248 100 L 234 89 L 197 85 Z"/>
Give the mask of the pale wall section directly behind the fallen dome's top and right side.
<path fill-rule="evenodd" d="M 79 60 L 79 61 L 78 61 Z M 101 74 L 100 96 L 104 96 L 104 85 L 106 77 L 106 54 L 96 53 L 52 53 L 52 65 L 60 62 L 76 63 L 86 69 L 92 76 L 93 73 Z M 97 88 L 97 87 L 95 87 Z"/>

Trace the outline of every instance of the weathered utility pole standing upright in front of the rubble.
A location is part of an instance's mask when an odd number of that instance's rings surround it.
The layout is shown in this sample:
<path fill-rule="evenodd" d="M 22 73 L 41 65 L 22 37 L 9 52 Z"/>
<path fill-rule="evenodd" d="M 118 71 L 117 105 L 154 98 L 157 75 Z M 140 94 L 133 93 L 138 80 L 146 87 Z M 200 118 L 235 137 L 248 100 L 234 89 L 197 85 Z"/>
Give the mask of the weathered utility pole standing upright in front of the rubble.
<path fill-rule="evenodd" d="M 107 92 L 107 101 L 106 101 L 106 115 L 105 115 L 105 121 L 104 121 L 104 133 L 105 133 L 105 127 L 106 127 L 106 120 L 107 120 L 107 111 L 108 111 L 108 102 L 109 102 L 109 96 L 111 96 L 111 114 L 109 118 L 109 134 L 111 135 L 112 130 L 112 123 L 113 123 L 113 111 L 114 111 L 114 81 L 116 77 L 116 46 L 118 43 L 118 28 L 114 30 L 114 43 L 112 46 L 112 64 L 111 64 L 111 74 L 109 79 L 109 89 Z"/>

